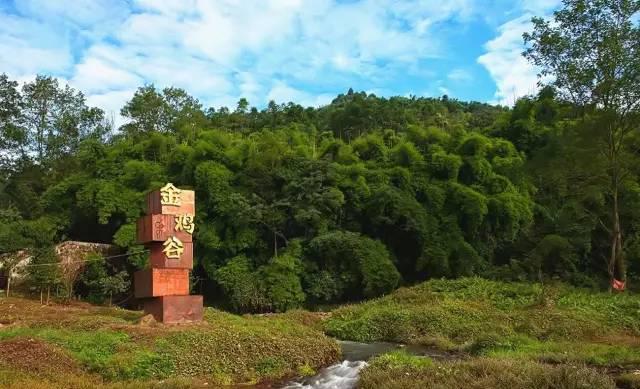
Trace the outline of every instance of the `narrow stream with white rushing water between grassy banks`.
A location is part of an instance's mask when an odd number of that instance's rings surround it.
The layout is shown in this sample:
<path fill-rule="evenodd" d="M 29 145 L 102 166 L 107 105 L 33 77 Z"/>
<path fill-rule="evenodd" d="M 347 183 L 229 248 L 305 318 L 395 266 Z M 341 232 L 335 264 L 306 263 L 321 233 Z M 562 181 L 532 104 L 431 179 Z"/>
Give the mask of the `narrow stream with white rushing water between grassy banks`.
<path fill-rule="evenodd" d="M 415 355 L 435 358 L 447 357 L 431 348 L 398 343 L 358 343 L 338 341 L 342 348 L 342 362 L 326 367 L 312 377 L 286 383 L 283 389 L 351 389 L 358 382 L 360 370 L 367 366 L 367 360 L 389 351 L 404 349 Z"/>

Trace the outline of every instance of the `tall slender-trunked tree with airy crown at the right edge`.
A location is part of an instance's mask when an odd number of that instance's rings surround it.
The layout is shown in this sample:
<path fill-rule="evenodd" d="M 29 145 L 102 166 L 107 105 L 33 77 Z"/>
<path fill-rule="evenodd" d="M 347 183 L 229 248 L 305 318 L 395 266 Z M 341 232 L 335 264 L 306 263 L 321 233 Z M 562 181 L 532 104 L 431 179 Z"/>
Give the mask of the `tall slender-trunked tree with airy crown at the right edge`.
<path fill-rule="evenodd" d="M 606 161 L 613 281 L 626 279 L 620 192 L 629 174 L 628 139 L 640 125 L 639 0 L 564 0 L 553 20 L 533 18 L 524 56 L 540 67 L 562 98 L 575 103 L 595 128 Z"/>

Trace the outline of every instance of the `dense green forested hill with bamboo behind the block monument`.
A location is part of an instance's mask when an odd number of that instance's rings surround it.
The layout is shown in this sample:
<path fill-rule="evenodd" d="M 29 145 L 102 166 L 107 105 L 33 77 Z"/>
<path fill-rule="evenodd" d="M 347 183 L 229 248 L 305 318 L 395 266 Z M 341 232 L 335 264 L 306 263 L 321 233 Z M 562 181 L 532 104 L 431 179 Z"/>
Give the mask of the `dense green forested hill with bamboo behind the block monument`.
<path fill-rule="evenodd" d="M 127 124 L 113 129 L 52 78 L 0 77 L 0 252 L 30 248 L 46 262 L 67 239 L 136 251 L 145 193 L 172 182 L 196 190 L 207 297 L 238 311 L 356 300 L 434 277 L 609 283 L 600 135 L 550 88 L 513 109 L 349 90 L 321 108 L 258 110 L 145 86 L 121 114 Z M 634 287 L 640 158 L 625 156 L 619 210 Z M 100 266 L 93 273 L 106 277 L 144 258 Z M 99 298 L 94 276 L 78 290 Z"/>

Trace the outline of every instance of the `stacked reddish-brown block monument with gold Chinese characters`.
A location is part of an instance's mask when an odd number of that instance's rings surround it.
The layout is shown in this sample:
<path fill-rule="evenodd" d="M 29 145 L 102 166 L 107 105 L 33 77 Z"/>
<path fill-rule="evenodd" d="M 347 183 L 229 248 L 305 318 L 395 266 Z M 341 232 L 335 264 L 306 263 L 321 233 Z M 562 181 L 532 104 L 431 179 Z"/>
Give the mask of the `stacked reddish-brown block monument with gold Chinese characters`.
<path fill-rule="evenodd" d="M 149 249 L 150 266 L 135 273 L 135 296 L 159 322 L 202 320 L 202 296 L 189 295 L 194 215 L 194 192 L 168 183 L 147 195 L 147 215 L 138 219 L 137 241 Z"/>

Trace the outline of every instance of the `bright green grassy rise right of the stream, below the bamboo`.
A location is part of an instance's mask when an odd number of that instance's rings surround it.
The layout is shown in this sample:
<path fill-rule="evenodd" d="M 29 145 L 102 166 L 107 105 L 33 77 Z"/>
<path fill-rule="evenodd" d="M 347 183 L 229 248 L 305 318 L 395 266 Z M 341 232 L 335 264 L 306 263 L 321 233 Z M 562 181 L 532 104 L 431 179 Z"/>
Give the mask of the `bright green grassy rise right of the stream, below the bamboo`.
<path fill-rule="evenodd" d="M 615 320 L 614 320 L 615 318 Z M 479 278 L 434 280 L 333 312 L 326 332 L 340 339 L 463 345 L 487 336 L 539 340 L 638 334 L 640 299 L 568 287 Z"/>

